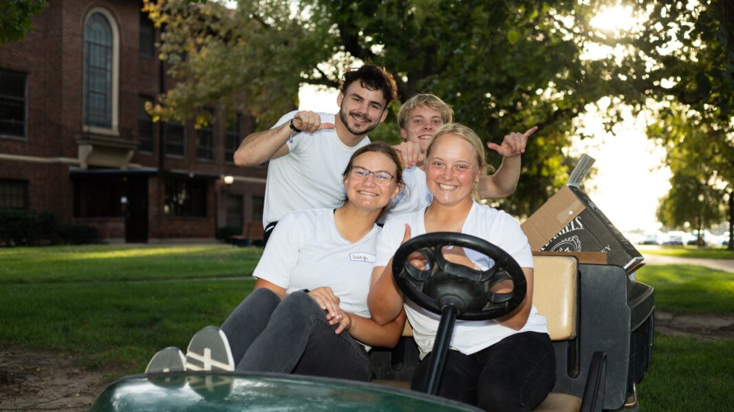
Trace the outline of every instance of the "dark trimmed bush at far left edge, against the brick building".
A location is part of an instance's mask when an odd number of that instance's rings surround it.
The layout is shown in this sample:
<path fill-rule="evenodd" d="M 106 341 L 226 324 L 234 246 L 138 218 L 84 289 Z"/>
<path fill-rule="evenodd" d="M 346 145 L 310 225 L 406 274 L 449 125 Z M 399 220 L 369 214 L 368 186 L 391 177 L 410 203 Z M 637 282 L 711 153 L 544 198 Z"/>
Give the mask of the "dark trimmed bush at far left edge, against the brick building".
<path fill-rule="evenodd" d="M 51 242 L 56 216 L 49 212 L 0 208 L 0 246 L 34 246 Z"/>

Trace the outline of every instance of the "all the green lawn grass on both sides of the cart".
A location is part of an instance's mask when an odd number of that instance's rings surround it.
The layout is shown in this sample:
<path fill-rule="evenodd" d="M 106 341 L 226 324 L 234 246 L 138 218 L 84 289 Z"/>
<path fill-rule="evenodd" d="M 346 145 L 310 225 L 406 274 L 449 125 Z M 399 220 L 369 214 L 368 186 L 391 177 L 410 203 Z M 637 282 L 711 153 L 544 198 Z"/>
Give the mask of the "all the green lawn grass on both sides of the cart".
<path fill-rule="evenodd" d="M 166 346 L 186 347 L 220 324 L 254 286 L 262 249 L 81 246 L 0 249 L 0 347 L 64 350 L 82 366 L 142 372 Z M 669 312 L 734 313 L 734 274 L 691 265 L 645 266 Z M 734 403 L 732 339 L 656 334 L 639 386 L 645 411 L 723 411 Z"/>

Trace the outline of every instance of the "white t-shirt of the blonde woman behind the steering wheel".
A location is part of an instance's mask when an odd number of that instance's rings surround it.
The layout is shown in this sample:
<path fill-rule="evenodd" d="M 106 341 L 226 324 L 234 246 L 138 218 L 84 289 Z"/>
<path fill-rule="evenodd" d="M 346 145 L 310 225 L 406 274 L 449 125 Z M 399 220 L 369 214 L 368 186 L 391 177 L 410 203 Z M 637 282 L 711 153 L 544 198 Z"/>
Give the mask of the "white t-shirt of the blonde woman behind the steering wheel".
<path fill-rule="evenodd" d="M 413 237 L 426 233 L 424 210 L 396 216 L 382 228 L 377 239 L 377 260 L 375 266 L 386 266 L 403 238 L 405 224 L 410 225 Z M 515 218 L 501 210 L 474 202 L 462 227 L 462 233 L 487 240 L 504 249 L 515 258 L 521 268 L 532 268 L 533 257 L 528 239 Z M 467 254 L 472 258 L 470 251 Z M 473 259 L 474 260 L 474 259 Z M 486 268 L 490 262 L 475 260 Z M 421 308 L 409 298 L 405 298 L 405 312 L 413 325 L 413 337 L 421 351 L 421 358 L 433 348 L 440 316 Z M 457 320 L 451 339 L 451 349 L 470 355 L 490 347 L 502 339 L 519 332 L 534 331 L 548 333 L 545 317 L 538 314 L 535 306 L 531 307 L 528 322 L 520 331 L 515 331 L 493 320 Z"/>

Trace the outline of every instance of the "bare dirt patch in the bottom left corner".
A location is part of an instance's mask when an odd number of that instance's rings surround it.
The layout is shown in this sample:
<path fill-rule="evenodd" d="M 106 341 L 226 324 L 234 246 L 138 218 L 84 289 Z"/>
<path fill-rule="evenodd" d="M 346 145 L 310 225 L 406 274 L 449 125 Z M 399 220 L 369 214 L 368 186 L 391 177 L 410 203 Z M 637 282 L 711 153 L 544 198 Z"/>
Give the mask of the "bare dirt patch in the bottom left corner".
<path fill-rule="evenodd" d="M 106 383 L 66 353 L 0 349 L 0 411 L 86 411 Z"/>

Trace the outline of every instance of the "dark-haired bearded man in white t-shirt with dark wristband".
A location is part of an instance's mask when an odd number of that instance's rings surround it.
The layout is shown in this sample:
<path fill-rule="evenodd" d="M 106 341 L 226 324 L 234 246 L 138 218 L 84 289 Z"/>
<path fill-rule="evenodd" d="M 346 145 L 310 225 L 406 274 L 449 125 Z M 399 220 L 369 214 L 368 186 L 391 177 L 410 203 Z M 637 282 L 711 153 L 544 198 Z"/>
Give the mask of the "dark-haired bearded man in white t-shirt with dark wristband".
<path fill-rule="evenodd" d="M 385 120 L 388 104 L 396 97 L 397 85 L 388 70 L 364 65 L 344 74 L 336 100 L 338 116 L 291 111 L 271 129 L 252 133 L 242 141 L 234 154 L 237 166 L 270 161 L 263 211 L 264 241 L 287 213 L 342 204 L 346 163 L 352 153 L 370 143 L 367 133 Z M 417 158 L 417 148 L 407 147 Z M 408 157 L 405 161 L 414 159 Z"/>

